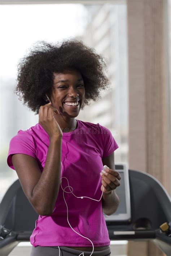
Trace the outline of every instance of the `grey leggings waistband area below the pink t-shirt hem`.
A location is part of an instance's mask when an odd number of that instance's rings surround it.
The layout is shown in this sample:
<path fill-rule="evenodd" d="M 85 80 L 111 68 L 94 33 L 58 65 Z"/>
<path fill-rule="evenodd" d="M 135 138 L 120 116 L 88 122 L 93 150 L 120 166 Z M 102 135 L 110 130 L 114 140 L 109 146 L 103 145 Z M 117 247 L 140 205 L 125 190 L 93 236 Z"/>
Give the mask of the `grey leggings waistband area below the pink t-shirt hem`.
<path fill-rule="evenodd" d="M 93 250 L 93 247 L 92 247 Z M 84 256 L 91 255 L 91 252 L 85 252 L 85 251 L 79 251 L 74 250 L 65 246 L 60 246 L 60 256 L 71 256 L 71 255 L 80 255 L 84 252 Z M 94 251 L 94 255 L 98 256 L 109 256 L 111 254 L 110 248 L 107 248 L 103 251 Z M 58 246 L 32 246 L 31 254 L 30 256 L 59 256 L 59 248 Z M 83 254 L 81 254 L 83 256 Z"/>

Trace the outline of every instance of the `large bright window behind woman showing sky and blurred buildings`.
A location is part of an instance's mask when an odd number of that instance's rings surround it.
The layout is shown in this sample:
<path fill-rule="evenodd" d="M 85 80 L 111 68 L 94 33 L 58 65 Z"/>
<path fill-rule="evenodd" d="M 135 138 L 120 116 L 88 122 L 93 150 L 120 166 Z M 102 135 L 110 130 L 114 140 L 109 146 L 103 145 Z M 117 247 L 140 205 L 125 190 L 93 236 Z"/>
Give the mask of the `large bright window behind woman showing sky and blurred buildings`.
<path fill-rule="evenodd" d="M 65 10 L 65 15 L 63 15 Z M 31 14 L 31 18 L 30 18 Z M 127 163 L 127 9 L 125 4 L 12 4 L 1 5 L 1 152 L 0 201 L 18 179 L 6 163 L 9 141 L 18 130 L 38 123 L 38 115 L 23 106 L 14 94 L 17 64 L 38 41 L 81 39 L 105 57 L 111 90 L 81 110 L 78 119 L 108 127 L 119 145 L 115 163 Z M 67 18 L 66 18 L 67 17 Z M 70 22 L 68 22 L 68 20 Z M 79 23 L 79 26 L 77 24 Z M 102 102 L 107 102 L 103 108 Z M 5 107 L 4 107 L 5 106 Z M 3 109 L 3 111 L 2 111 Z M 97 112 L 95 110 L 98 110 Z M 92 110 L 92 111 L 91 111 Z M 91 115 L 89 113 L 92 113 Z M 107 114 L 106 114 L 107 113 Z M 16 121 L 17 120 L 17 121 Z"/>

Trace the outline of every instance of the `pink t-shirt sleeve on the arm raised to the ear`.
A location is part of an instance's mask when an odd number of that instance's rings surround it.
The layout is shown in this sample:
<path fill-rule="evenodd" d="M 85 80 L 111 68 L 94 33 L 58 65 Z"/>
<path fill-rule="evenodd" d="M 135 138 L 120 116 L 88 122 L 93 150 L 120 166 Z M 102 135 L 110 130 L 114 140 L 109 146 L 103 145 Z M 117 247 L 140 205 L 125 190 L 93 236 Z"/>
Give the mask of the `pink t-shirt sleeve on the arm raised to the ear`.
<path fill-rule="evenodd" d="M 7 155 L 7 164 L 10 168 L 14 169 L 12 164 L 12 155 L 17 153 L 23 153 L 32 156 L 36 159 L 34 141 L 31 134 L 22 131 L 14 136 L 9 143 L 9 151 Z"/>

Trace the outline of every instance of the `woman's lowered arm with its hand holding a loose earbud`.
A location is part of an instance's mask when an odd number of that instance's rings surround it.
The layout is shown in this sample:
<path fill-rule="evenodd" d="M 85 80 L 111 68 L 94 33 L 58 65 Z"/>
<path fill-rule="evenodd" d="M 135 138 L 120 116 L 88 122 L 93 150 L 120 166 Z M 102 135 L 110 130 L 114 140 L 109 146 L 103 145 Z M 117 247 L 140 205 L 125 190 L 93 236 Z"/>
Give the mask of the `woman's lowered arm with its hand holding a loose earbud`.
<path fill-rule="evenodd" d="M 102 158 L 103 165 L 107 165 L 110 169 L 105 169 L 107 174 L 102 174 L 101 191 L 102 195 L 102 209 L 106 215 L 112 215 L 117 211 L 119 206 L 119 197 L 115 189 L 120 186 L 120 174 L 115 171 L 114 152 L 109 156 Z"/>

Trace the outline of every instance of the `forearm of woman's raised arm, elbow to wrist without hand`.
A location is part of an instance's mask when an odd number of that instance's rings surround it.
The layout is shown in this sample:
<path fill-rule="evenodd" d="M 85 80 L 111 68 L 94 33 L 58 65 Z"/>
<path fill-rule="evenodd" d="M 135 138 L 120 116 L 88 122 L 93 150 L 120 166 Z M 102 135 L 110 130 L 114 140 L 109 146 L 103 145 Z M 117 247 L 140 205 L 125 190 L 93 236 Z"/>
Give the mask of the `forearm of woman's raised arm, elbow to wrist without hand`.
<path fill-rule="evenodd" d="M 43 173 L 32 191 L 32 202 L 37 205 L 40 215 L 50 215 L 58 197 L 61 178 L 62 138 L 50 140 Z"/>

